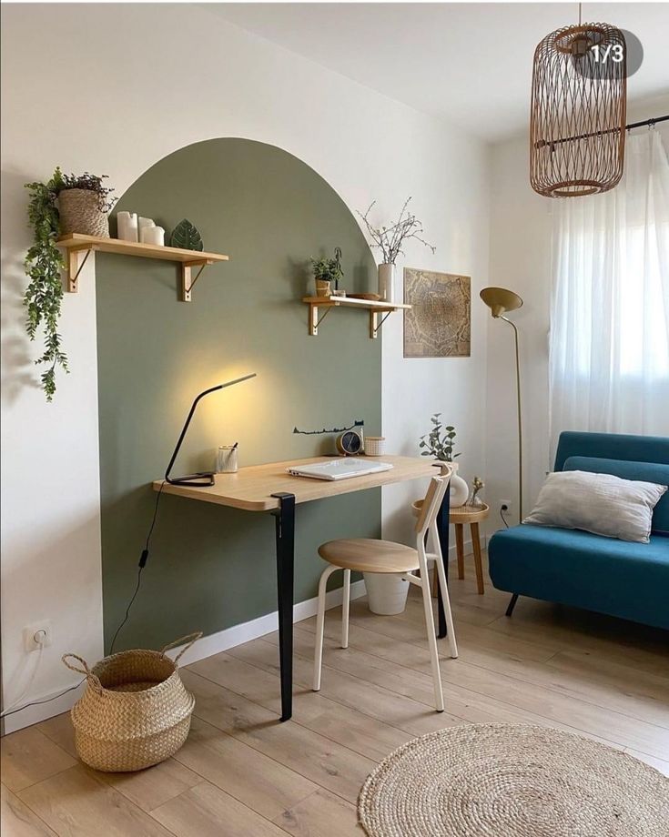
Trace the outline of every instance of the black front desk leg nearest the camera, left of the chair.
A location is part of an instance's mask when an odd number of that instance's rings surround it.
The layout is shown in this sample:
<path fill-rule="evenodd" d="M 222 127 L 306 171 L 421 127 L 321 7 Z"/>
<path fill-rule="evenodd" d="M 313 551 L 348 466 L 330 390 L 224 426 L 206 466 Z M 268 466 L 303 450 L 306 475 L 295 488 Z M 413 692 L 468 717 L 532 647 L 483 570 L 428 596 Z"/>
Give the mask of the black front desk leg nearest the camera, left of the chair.
<path fill-rule="evenodd" d="M 281 668 L 281 721 L 293 713 L 293 579 L 295 576 L 295 495 L 272 494 L 279 499 L 273 512 L 277 523 L 277 592 L 279 595 L 279 665 Z"/>

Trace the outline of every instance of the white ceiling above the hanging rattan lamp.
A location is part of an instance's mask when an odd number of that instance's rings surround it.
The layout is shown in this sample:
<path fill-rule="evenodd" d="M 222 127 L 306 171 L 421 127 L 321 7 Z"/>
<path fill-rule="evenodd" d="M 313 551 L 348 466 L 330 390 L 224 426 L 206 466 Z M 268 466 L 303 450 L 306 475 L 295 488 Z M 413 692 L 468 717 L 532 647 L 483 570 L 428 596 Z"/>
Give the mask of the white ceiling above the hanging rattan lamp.
<path fill-rule="evenodd" d="M 207 8 L 491 142 L 525 129 L 534 47 L 578 16 L 576 3 L 213 3 Z M 585 3 L 583 20 L 620 26 L 644 45 L 644 63 L 629 80 L 630 101 L 669 93 L 668 3 Z"/>

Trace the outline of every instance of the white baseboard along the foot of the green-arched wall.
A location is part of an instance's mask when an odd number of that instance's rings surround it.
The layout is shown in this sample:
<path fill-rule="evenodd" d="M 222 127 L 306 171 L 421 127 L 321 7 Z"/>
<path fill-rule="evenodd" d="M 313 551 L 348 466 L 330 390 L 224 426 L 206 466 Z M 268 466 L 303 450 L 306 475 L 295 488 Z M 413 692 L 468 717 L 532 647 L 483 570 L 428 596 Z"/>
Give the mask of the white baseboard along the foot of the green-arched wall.
<path fill-rule="evenodd" d="M 481 549 L 485 549 L 486 539 L 481 537 Z M 465 554 L 471 553 L 471 540 L 465 541 Z M 455 560 L 455 546 L 449 549 L 449 561 Z M 363 580 L 354 581 L 350 585 L 350 598 L 360 599 L 365 595 L 365 582 Z M 316 615 L 316 607 L 318 598 L 300 601 L 293 607 L 293 622 L 300 622 L 304 619 L 309 619 Z M 330 590 L 326 594 L 327 610 L 336 608 L 341 604 L 341 588 L 337 590 Z M 191 662 L 198 662 L 214 654 L 219 654 L 221 651 L 235 648 L 237 645 L 242 645 L 244 642 L 250 640 L 257 640 L 258 637 L 264 637 L 268 633 L 273 633 L 279 630 L 279 613 L 274 610 L 272 613 L 267 613 L 265 616 L 258 616 L 258 619 L 253 619 L 248 622 L 243 622 L 240 625 L 233 625 L 231 628 L 225 630 L 218 630 L 216 633 L 210 634 L 208 637 L 203 637 L 201 640 L 188 649 L 184 656 L 179 660 L 179 665 L 189 665 Z M 183 646 L 182 646 L 183 647 Z M 179 649 L 174 652 L 170 651 L 170 656 L 178 653 Z M 76 682 L 76 681 L 75 681 Z M 72 685 L 75 685 L 73 682 Z M 65 687 L 67 688 L 67 687 Z M 4 719 L 5 734 L 8 732 L 15 732 L 22 730 L 24 727 L 31 726 L 39 721 L 46 721 L 47 718 L 53 718 L 61 712 L 66 712 L 75 705 L 76 701 L 81 696 L 83 685 L 75 691 L 68 691 L 56 700 L 48 703 L 41 703 L 37 706 L 28 706 L 23 711 L 16 712 L 15 715 L 9 715 Z M 44 695 L 36 697 L 35 701 L 48 701 L 54 694 L 59 694 L 63 689 L 47 692 Z"/>

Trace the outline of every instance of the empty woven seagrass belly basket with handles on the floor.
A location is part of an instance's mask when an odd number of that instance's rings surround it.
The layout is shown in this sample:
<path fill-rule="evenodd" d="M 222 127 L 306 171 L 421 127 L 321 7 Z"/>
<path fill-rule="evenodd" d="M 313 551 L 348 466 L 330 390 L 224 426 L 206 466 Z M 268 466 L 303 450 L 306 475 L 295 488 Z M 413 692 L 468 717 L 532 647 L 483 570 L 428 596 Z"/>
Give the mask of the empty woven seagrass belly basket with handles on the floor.
<path fill-rule="evenodd" d="M 86 675 L 86 691 L 70 713 L 81 761 L 98 771 L 138 771 L 177 752 L 195 706 L 177 661 L 201 636 L 190 634 L 160 651 L 121 651 L 92 669 L 76 654 L 63 657 L 68 669 Z M 185 641 L 186 648 L 170 660 L 166 651 Z"/>

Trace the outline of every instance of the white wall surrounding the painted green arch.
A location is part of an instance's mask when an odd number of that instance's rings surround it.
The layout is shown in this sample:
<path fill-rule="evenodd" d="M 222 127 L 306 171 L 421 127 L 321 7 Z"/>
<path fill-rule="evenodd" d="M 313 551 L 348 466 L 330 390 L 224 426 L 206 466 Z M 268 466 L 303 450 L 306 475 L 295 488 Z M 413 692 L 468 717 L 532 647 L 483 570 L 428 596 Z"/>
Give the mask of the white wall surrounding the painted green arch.
<path fill-rule="evenodd" d="M 411 248 L 407 264 L 470 273 L 475 297 L 487 281 L 488 155 L 478 140 L 194 5 L 3 5 L 2 19 L 7 705 L 35 662 L 23 651 L 25 625 L 50 619 L 54 632 L 25 701 L 73 682 L 62 653 L 95 660 L 102 651 L 95 287 L 86 267 L 78 296 L 66 296 L 62 333 L 72 373 L 60 376 L 55 403 L 46 405 L 32 383 L 38 346 L 28 345 L 22 325 L 25 181 L 59 164 L 108 174 L 120 195 L 179 147 L 245 136 L 313 166 L 352 209 L 376 198 L 379 217 L 390 218 L 413 196 L 438 249 L 432 257 Z M 481 317 L 474 307 L 468 360 L 403 360 L 400 318 L 384 325 L 390 449 L 414 452 L 431 412 L 442 409 L 461 430 L 466 475 L 482 471 Z M 406 534 L 406 511 L 398 519 L 395 510 L 413 493 L 386 495 L 389 531 Z M 14 716 L 7 729 L 62 706 Z"/>

